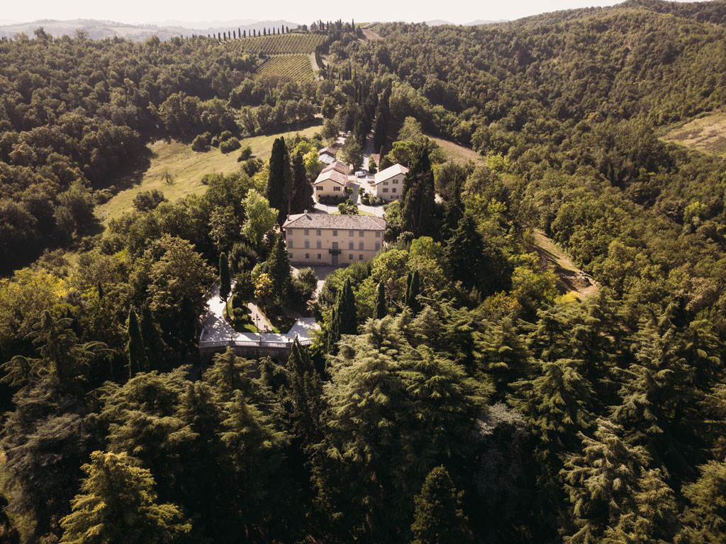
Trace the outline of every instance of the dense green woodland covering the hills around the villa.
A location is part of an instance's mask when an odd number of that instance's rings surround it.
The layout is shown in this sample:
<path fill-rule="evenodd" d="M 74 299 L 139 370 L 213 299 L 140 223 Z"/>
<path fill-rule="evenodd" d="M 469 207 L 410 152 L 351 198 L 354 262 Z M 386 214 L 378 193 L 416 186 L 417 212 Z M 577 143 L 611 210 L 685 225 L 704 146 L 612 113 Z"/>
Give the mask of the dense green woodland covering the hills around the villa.
<path fill-rule="evenodd" d="M 726 2 L 374 30 L 303 84 L 213 38 L 0 41 L 1 542 L 726 540 L 726 168 L 658 139 L 726 107 Z M 272 112 L 325 123 L 94 218 L 150 139 Z M 201 365 L 216 279 L 304 308 L 275 225 L 370 127 L 410 165 L 383 250 L 327 277 L 310 348 Z"/>

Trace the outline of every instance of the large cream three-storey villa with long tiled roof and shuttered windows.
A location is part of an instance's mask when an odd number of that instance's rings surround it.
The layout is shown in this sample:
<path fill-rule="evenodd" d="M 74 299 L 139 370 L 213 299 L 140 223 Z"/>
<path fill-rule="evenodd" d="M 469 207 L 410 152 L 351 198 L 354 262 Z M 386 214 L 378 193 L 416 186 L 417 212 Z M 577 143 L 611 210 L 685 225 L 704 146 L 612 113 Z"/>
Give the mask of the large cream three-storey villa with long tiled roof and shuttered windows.
<path fill-rule="evenodd" d="M 369 260 L 383 244 L 386 221 L 372 215 L 288 215 L 282 225 L 290 262 L 340 265 Z"/>

